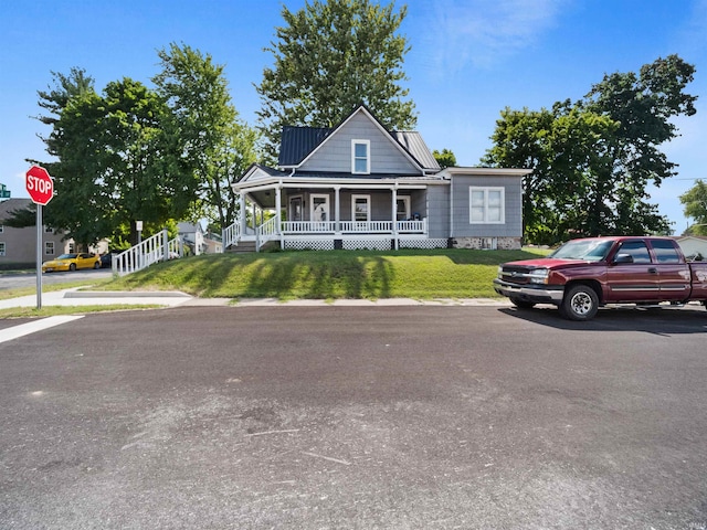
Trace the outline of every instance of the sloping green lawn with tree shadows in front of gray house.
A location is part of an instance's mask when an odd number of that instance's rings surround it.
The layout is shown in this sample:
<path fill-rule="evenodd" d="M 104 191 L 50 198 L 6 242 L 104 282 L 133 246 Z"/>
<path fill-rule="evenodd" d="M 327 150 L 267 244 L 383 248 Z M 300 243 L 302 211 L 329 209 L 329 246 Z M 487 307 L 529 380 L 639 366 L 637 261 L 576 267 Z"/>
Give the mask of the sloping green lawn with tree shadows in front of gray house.
<path fill-rule="evenodd" d="M 524 251 L 275 252 L 175 259 L 102 284 L 106 290 L 177 289 L 200 297 L 486 298 L 498 264 Z"/>

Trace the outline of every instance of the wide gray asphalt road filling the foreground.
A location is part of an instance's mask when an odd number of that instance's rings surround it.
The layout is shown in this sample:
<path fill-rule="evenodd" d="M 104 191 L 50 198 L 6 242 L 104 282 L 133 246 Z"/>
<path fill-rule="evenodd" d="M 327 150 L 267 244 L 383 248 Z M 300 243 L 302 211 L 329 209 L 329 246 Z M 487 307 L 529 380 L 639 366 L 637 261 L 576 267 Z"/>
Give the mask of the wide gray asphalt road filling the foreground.
<path fill-rule="evenodd" d="M 0 528 L 705 529 L 706 331 L 699 307 L 88 315 L 0 344 Z"/>

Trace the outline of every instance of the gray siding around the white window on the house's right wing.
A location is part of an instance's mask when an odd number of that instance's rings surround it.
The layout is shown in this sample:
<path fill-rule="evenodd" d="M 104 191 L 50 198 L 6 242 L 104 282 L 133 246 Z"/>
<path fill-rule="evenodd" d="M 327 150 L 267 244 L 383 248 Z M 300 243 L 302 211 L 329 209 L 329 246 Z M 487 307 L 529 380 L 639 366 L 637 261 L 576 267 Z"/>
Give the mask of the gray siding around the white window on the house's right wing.
<path fill-rule="evenodd" d="M 469 223 L 469 188 L 505 189 L 505 223 Z M 460 177 L 452 180 L 452 237 L 523 236 L 523 186 L 519 177 Z"/>

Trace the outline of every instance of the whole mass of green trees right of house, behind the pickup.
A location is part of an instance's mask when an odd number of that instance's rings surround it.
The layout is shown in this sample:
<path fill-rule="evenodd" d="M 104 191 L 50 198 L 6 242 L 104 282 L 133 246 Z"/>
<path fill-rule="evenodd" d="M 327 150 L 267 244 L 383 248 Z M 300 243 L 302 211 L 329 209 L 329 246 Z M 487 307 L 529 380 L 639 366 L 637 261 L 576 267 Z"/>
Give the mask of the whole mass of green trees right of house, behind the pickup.
<path fill-rule="evenodd" d="M 502 113 L 482 162 L 532 169 L 524 182 L 528 242 L 669 232 L 646 189 L 675 174 L 659 148 L 678 134 L 673 118 L 695 114 L 696 97 L 684 93 L 694 71 L 671 55 L 640 74 L 604 76 L 574 104 Z"/>

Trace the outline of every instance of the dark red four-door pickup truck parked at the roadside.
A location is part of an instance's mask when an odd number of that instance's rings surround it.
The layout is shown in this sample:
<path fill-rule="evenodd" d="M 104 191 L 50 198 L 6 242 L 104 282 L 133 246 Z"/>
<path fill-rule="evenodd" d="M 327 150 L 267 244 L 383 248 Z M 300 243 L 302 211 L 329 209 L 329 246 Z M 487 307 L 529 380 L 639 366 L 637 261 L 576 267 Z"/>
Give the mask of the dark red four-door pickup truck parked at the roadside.
<path fill-rule="evenodd" d="M 570 320 L 606 304 L 707 306 L 707 262 L 687 263 L 669 237 L 572 240 L 548 257 L 504 263 L 494 289 L 520 308 L 553 304 Z"/>

